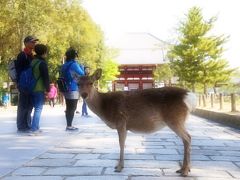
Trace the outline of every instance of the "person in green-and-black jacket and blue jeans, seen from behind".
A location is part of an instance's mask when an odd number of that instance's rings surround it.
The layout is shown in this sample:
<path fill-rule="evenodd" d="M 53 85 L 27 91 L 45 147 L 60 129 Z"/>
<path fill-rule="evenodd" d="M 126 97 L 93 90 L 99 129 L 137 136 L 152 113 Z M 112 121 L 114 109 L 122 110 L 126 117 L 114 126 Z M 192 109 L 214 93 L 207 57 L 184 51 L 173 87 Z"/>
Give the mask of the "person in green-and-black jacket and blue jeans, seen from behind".
<path fill-rule="evenodd" d="M 37 134 L 41 132 L 39 127 L 39 122 L 41 118 L 41 113 L 44 105 L 45 92 L 49 92 L 49 74 L 48 66 L 45 58 L 47 57 L 47 46 L 43 44 L 37 44 L 34 48 L 36 53 L 31 66 L 34 67 L 33 75 L 36 79 L 36 86 L 31 93 L 32 104 L 34 108 L 31 132 Z"/>

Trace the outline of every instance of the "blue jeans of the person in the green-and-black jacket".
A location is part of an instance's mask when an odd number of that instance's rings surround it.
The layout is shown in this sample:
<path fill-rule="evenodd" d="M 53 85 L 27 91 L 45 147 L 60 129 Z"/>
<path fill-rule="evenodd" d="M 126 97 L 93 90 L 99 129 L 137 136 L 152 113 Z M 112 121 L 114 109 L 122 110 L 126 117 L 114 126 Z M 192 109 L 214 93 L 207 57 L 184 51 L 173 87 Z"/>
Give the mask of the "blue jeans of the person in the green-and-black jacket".
<path fill-rule="evenodd" d="M 32 93 L 32 102 L 34 108 L 34 114 L 32 118 L 31 130 L 39 130 L 39 121 L 44 104 L 44 92 L 33 92 Z"/>

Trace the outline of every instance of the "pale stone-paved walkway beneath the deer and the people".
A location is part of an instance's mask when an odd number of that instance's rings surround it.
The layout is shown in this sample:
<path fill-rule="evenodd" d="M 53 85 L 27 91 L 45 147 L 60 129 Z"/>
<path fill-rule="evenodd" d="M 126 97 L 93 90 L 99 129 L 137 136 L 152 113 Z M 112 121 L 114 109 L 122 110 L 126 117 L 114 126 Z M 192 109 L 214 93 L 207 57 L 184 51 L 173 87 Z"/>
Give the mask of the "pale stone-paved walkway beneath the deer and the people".
<path fill-rule="evenodd" d="M 128 133 L 125 168 L 114 172 L 119 146 L 115 130 L 93 114 L 76 114 L 77 133 L 65 129 L 64 108 L 45 107 L 39 136 L 17 134 L 15 110 L 0 114 L 0 179 L 3 180 L 157 180 L 240 179 L 240 133 L 191 116 L 192 170 L 175 173 L 182 142 L 168 128 L 151 135 Z"/>

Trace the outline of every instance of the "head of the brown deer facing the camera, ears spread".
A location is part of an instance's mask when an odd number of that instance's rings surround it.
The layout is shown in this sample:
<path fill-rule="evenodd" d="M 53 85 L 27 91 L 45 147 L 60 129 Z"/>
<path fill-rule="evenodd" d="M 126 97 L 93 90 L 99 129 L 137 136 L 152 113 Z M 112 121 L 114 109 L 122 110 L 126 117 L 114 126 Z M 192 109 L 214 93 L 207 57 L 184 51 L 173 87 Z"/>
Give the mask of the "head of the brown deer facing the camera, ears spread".
<path fill-rule="evenodd" d="M 102 76 L 102 69 L 97 69 L 91 76 L 79 76 L 72 74 L 72 77 L 78 82 L 79 92 L 83 99 L 91 98 L 93 95 L 94 82 L 99 80 Z"/>

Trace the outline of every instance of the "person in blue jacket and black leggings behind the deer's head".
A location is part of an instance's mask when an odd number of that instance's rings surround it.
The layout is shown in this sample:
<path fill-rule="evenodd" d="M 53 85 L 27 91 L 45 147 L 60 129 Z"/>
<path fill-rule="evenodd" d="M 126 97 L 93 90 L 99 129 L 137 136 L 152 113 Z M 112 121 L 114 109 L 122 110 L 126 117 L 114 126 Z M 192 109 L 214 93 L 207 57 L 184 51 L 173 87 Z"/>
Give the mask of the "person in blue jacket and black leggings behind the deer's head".
<path fill-rule="evenodd" d="M 77 103 L 79 99 L 79 91 L 77 82 L 72 77 L 73 73 L 83 76 L 85 73 L 81 66 L 76 61 L 78 53 L 75 49 L 69 48 L 66 53 L 66 61 L 61 68 L 61 72 L 66 79 L 68 92 L 64 92 L 64 98 L 66 102 L 65 117 L 67 121 L 66 131 L 76 131 L 78 128 L 72 126 L 75 110 L 77 109 Z"/>

